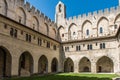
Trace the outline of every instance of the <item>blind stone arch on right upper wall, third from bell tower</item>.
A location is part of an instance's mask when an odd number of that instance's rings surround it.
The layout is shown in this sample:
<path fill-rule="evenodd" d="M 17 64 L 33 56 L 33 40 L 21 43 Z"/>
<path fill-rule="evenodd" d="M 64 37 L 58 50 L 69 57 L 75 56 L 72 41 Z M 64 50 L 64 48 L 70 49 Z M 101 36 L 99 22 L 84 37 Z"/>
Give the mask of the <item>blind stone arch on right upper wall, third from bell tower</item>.
<path fill-rule="evenodd" d="M 83 38 L 88 38 L 92 36 L 92 22 L 85 20 L 82 24 L 82 36 Z M 89 34 L 88 34 L 89 31 Z"/>

